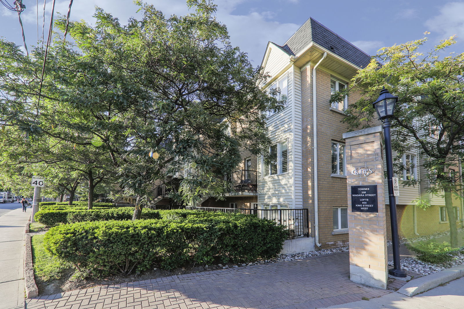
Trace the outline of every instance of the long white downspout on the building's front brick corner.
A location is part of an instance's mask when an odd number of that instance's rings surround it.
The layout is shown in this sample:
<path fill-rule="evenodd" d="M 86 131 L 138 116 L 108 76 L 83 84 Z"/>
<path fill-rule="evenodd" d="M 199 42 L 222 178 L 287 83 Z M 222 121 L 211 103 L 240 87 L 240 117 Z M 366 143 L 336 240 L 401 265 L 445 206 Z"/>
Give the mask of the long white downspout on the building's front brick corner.
<path fill-rule="evenodd" d="M 316 68 L 321 64 L 322 60 L 327 57 L 327 52 L 324 52 L 322 58 L 313 68 L 313 174 L 314 174 L 314 236 L 316 246 L 320 247 L 319 243 L 319 212 L 318 212 L 318 185 L 317 185 L 317 104 L 316 104 Z"/>

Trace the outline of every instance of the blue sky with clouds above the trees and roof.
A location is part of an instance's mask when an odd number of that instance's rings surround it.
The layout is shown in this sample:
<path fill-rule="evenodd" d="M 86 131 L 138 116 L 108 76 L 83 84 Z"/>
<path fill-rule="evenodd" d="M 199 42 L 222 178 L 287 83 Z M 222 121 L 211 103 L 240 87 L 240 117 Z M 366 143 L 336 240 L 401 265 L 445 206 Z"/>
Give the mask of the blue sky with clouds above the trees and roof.
<path fill-rule="evenodd" d="M 8 0 L 13 3 L 13 0 Z M 45 33 L 52 0 L 47 0 Z M 166 15 L 185 14 L 185 0 L 147 0 Z M 23 0 L 21 14 L 26 43 L 37 41 L 37 0 Z M 39 0 L 39 35 L 42 32 L 43 0 Z M 370 55 L 383 46 L 420 39 L 425 31 L 435 44 L 440 39 L 458 35 L 458 44 L 450 52 L 464 51 L 464 1 L 432 0 L 216 0 L 217 17 L 228 26 L 233 45 L 247 52 L 259 65 L 268 41 L 284 42 L 310 16 Z M 55 12 L 67 13 L 69 0 L 56 0 Z M 123 22 L 139 16 L 131 0 L 74 0 L 71 19 L 90 23 L 95 6 L 103 7 Z M 0 7 L 0 36 L 23 45 L 18 16 Z"/>

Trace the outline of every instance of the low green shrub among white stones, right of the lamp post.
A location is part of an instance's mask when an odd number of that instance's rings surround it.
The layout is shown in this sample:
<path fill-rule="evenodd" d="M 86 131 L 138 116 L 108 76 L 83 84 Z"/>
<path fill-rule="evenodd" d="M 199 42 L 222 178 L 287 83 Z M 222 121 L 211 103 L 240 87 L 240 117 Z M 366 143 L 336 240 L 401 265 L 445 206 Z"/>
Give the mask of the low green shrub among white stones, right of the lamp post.
<path fill-rule="evenodd" d="M 451 248 L 451 245 L 445 241 L 441 244 L 434 241 L 416 242 L 406 244 L 406 247 L 416 252 L 419 260 L 433 264 L 451 261 L 458 251 L 457 248 Z"/>

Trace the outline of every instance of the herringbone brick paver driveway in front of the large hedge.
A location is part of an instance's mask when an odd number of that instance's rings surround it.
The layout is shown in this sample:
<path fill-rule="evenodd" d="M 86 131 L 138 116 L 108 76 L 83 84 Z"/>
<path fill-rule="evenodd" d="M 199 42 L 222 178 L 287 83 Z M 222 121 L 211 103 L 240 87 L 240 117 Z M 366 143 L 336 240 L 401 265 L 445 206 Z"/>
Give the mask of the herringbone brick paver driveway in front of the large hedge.
<path fill-rule="evenodd" d="M 349 280 L 348 252 L 97 286 L 27 300 L 27 309 L 312 309 L 389 293 Z"/>

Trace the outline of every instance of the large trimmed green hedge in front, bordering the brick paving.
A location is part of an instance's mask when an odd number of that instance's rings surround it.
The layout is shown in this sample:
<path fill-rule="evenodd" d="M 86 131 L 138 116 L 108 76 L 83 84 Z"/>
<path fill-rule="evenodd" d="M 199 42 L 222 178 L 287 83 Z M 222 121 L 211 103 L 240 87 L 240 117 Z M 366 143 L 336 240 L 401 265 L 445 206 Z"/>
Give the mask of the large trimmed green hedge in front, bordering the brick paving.
<path fill-rule="evenodd" d="M 155 266 L 240 263 L 275 257 L 286 239 L 282 225 L 255 216 L 212 215 L 199 220 L 94 221 L 58 225 L 45 248 L 91 277 L 129 274 Z"/>

